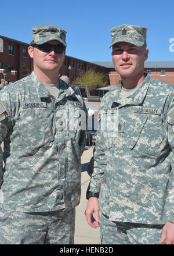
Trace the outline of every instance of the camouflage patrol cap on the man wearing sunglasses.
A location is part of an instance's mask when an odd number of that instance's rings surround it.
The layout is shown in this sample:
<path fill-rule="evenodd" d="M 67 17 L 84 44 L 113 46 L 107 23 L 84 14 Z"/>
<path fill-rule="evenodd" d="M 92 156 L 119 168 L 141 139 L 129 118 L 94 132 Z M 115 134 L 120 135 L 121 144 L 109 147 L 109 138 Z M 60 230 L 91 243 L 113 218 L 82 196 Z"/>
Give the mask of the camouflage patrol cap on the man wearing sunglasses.
<path fill-rule="evenodd" d="M 66 44 L 66 31 L 53 25 L 39 25 L 32 27 L 32 41 L 35 44 L 44 44 L 51 40 L 57 40 L 67 47 Z"/>

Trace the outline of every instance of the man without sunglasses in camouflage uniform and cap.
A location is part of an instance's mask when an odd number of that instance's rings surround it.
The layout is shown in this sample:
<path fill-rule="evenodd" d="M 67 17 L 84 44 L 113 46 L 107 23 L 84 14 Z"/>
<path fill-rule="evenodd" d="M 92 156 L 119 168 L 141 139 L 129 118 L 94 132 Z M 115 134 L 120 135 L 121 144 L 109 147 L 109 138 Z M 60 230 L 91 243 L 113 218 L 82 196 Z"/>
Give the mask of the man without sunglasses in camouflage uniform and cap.
<path fill-rule="evenodd" d="M 102 244 L 174 244 L 174 86 L 144 74 L 146 31 L 111 29 L 122 81 L 102 100 L 86 208 Z"/>

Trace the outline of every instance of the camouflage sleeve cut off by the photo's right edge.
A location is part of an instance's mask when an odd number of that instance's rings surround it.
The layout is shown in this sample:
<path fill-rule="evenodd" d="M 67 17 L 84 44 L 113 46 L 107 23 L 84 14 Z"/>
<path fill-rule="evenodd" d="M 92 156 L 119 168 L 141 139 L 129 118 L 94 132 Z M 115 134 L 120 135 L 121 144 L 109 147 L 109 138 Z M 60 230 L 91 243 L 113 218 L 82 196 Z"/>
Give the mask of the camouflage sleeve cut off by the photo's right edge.
<path fill-rule="evenodd" d="M 171 173 L 168 183 L 168 194 L 166 197 L 166 211 L 170 212 L 170 219 L 168 221 L 174 222 L 174 98 L 169 105 L 167 114 L 168 123 L 168 143 L 171 148 Z"/>

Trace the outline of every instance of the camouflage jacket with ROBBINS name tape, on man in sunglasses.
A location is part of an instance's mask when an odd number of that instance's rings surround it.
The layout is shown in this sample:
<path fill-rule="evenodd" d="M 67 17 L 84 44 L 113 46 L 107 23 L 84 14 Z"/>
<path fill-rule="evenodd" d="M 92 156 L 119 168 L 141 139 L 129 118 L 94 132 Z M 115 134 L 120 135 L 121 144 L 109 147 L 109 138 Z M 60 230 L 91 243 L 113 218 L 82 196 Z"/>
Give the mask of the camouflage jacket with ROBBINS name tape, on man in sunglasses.
<path fill-rule="evenodd" d="M 0 115 L 5 161 L 5 168 L 1 166 L 2 209 L 50 212 L 79 204 L 86 131 L 66 130 L 66 122 L 73 112 L 78 122 L 78 112 L 85 106 L 62 80 L 59 89 L 56 99 L 50 97 L 32 72 L 1 93 L 5 109 Z M 2 152 L 0 156 L 2 163 Z"/>

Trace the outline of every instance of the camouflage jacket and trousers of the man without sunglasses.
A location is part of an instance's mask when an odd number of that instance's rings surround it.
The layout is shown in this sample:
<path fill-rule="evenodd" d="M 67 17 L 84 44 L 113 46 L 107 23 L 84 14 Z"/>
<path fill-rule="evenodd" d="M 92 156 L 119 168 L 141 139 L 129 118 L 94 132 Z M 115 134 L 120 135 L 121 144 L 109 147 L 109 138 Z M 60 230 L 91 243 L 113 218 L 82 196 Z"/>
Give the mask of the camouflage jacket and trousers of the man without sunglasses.
<path fill-rule="evenodd" d="M 122 226 L 121 236 L 127 224 L 132 243 L 158 243 L 159 228 L 174 222 L 174 86 L 147 74 L 129 97 L 121 88 L 122 83 L 102 99 L 87 197 L 99 195 L 100 212 L 106 215 L 100 230 L 108 232 L 104 243 L 126 243 L 122 237 L 111 239 L 108 221 Z M 139 226 L 133 229 L 131 223 Z M 161 227 L 146 233 L 142 223 Z M 160 234 L 150 237 L 155 227 Z"/>

